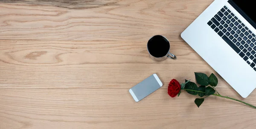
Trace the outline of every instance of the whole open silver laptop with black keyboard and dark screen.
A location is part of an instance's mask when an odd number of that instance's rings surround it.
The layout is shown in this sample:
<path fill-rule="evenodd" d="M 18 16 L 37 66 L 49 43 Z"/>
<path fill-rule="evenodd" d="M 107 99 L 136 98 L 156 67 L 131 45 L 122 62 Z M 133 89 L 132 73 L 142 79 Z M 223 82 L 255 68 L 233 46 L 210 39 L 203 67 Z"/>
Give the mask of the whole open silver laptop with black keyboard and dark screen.
<path fill-rule="evenodd" d="M 253 0 L 215 0 L 181 37 L 242 97 L 256 88 Z"/>

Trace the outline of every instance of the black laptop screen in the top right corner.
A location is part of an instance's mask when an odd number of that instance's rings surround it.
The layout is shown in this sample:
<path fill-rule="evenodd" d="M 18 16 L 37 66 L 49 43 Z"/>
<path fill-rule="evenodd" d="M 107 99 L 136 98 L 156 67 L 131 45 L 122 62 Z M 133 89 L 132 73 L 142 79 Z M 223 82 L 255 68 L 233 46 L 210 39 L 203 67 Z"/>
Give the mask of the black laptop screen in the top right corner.
<path fill-rule="evenodd" d="M 253 1 L 229 0 L 228 2 L 256 29 L 255 4 Z"/>

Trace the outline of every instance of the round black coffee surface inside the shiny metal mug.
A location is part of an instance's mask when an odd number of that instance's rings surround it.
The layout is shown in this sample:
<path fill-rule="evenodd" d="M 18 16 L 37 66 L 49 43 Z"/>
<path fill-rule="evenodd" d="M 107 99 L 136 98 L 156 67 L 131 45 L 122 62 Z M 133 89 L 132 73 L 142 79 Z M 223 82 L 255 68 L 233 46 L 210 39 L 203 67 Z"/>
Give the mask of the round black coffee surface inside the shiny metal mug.
<path fill-rule="evenodd" d="M 156 35 L 148 41 L 148 52 L 154 57 L 165 56 L 169 49 L 169 41 L 161 35 Z"/>

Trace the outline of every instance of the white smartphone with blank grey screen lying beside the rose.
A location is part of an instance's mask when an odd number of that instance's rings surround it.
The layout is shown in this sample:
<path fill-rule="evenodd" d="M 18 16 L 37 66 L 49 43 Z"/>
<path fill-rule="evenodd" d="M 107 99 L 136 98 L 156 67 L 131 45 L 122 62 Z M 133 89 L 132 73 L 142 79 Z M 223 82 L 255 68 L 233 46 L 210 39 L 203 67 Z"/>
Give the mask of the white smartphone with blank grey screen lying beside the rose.
<path fill-rule="evenodd" d="M 162 86 L 163 83 L 161 82 L 157 74 L 153 74 L 129 89 L 129 92 L 131 93 L 131 96 L 134 98 L 134 100 L 136 102 L 139 102 L 144 97 L 150 95 Z"/>

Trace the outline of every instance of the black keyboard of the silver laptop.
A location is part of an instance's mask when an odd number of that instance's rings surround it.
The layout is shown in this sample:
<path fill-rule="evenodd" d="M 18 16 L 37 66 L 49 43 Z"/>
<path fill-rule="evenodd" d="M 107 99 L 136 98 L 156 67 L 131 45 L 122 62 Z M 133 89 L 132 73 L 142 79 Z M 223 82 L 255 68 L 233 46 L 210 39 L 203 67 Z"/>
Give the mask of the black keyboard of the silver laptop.
<path fill-rule="evenodd" d="M 256 71 L 256 35 L 227 6 L 207 24 Z"/>

